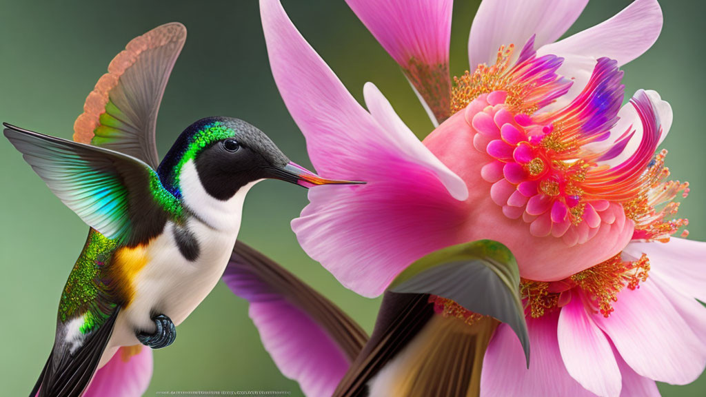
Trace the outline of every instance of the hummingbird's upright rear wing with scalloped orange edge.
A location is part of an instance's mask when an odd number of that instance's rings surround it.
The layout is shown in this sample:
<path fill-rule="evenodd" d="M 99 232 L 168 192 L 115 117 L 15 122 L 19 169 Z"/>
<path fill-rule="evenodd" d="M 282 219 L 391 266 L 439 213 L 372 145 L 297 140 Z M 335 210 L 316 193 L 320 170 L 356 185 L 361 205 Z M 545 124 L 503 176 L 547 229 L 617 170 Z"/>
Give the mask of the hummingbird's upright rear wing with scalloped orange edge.
<path fill-rule="evenodd" d="M 134 38 L 108 66 L 73 124 L 73 140 L 131 155 L 155 170 L 162 94 L 186 40 L 181 23 Z"/>

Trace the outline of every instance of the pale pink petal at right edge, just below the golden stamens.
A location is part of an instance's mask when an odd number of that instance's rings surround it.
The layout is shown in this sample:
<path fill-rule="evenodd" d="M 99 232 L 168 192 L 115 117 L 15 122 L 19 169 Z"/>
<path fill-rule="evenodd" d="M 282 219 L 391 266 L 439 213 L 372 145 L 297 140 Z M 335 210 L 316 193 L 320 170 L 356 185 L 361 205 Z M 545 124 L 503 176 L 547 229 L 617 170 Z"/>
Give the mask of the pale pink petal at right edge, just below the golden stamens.
<path fill-rule="evenodd" d="M 706 302 L 706 243 L 671 237 L 669 242 L 630 242 L 626 252 L 650 259 L 653 273 L 689 297 Z"/>

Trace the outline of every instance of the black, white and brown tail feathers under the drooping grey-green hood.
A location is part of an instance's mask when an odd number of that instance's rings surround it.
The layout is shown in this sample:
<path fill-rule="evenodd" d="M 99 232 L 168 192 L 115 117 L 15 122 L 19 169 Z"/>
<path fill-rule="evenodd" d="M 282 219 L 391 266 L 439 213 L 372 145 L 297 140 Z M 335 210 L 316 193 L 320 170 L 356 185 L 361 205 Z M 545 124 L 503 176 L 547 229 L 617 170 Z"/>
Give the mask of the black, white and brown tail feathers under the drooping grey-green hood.
<path fill-rule="evenodd" d="M 334 396 L 477 397 L 498 324 L 434 314 L 429 295 L 386 292 L 373 336 Z M 385 387 L 373 393 L 371 381 Z"/>

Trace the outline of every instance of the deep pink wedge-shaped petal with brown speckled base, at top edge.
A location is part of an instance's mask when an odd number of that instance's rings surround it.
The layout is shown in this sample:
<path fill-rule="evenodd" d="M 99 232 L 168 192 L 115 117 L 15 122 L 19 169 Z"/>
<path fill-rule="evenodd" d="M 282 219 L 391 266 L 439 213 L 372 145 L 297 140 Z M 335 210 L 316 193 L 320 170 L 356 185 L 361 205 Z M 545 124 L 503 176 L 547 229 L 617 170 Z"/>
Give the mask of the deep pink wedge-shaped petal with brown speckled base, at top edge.
<path fill-rule="evenodd" d="M 452 0 L 346 0 L 348 6 L 402 66 L 431 111 L 433 121 L 450 114 L 448 53 Z"/>

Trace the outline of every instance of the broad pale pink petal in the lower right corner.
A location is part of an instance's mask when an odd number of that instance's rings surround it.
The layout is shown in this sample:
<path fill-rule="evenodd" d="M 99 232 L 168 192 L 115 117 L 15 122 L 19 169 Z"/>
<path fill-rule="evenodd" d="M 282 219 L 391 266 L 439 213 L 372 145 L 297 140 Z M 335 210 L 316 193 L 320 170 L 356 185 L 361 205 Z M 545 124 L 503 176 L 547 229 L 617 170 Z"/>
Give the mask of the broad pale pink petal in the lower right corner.
<path fill-rule="evenodd" d="M 699 377 L 706 360 L 704 345 L 654 282 L 626 288 L 613 307 L 608 318 L 594 314 L 593 320 L 635 372 L 671 384 Z"/>

